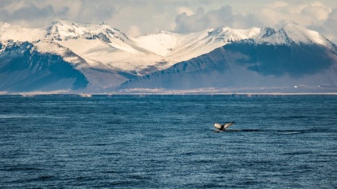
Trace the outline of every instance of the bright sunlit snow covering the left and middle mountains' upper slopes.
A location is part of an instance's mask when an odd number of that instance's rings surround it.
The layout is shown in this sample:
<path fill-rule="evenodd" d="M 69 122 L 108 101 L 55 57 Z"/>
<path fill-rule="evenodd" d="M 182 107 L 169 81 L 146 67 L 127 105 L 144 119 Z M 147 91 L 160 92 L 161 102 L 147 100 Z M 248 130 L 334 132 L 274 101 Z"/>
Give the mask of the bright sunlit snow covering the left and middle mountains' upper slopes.
<path fill-rule="evenodd" d="M 0 30 L 1 41 L 40 40 L 44 41 L 43 46 L 42 43 L 35 44 L 43 52 L 50 50 L 64 57 L 62 49 L 67 49 L 84 59 L 86 66 L 118 68 L 139 75 L 169 68 L 179 61 L 198 57 L 227 43 L 249 39 L 259 33 L 258 28 L 235 30 L 222 27 L 191 34 L 161 31 L 129 38 L 107 24 L 82 24 L 66 19 L 36 29 L 5 23 Z M 51 43 L 49 47 L 48 42 Z M 55 46 L 55 43 L 59 46 Z"/>

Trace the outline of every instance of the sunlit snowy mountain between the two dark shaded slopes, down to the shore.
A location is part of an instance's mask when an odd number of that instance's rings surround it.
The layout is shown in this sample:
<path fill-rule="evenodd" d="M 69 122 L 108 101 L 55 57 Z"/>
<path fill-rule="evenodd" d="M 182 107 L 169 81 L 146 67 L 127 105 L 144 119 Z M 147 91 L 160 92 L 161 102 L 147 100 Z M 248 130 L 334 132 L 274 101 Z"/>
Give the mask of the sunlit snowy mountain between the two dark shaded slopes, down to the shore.
<path fill-rule="evenodd" d="M 27 42 L 34 52 L 57 55 L 84 74 L 89 81 L 85 90 L 102 92 L 112 90 L 131 78 L 170 68 L 176 62 L 192 59 L 227 43 L 251 38 L 258 32 L 257 28 L 217 28 L 192 34 L 162 31 L 130 38 L 105 23 L 94 25 L 59 20 L 42 28 L 3 23 L 0 25 L 0 43 L 1 52 L 8 52 L 9 46 L 21 46 L 22 42 Z M 26 57 L 30 55 L 17 54 L 25 60 L 30 59 Z M 12 64 L 16 64 L 13 61 Z M 7 74 L 1 76 L 7 77 Z M 12 88 L 2 87 L 0 90 Z"/>

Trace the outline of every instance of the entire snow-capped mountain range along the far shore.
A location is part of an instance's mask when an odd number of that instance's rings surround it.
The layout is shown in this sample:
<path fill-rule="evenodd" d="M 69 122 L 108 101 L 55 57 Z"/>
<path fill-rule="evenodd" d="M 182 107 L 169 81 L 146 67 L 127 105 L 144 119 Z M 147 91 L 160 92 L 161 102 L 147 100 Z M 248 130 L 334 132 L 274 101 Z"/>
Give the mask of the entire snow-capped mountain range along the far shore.
<path fill-rule="evenodd" d="M 336 92 L 337 47 L 294 24 L 127 37 L 106 23 L 0 24 L 0 91 Z"/>

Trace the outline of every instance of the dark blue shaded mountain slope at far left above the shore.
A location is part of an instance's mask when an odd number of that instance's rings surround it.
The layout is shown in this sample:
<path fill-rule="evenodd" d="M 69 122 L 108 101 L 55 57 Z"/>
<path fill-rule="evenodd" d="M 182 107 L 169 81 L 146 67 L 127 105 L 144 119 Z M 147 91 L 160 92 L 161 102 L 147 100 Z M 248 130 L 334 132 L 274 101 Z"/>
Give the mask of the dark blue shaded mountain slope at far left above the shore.
<path fill-rule="evenodd" d="M 33 43 L 7 43 L 1 48 L 0 90 L 78 90 L 88 86 L 75 66 L 58 55 L 38 52 Z"/>

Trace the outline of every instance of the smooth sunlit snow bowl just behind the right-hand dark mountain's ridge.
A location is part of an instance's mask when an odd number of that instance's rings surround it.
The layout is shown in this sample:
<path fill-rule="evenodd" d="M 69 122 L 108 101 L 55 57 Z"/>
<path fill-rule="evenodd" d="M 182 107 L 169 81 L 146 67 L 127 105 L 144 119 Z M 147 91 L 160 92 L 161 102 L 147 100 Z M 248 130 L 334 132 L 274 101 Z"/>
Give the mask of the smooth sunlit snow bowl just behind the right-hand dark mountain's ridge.
<path fill-rule="evenodd" d="M 259 34 L 259 28 L 236 30 L 232 28 L 210 28 L 190 34 L 177 34 L 161 31 L 147 34 L 134 39 L 136 45 L 159 54 L 172 66 L 179 61 L 185 61 L 206 54 L 233 41 L 250 39 Z"/>

